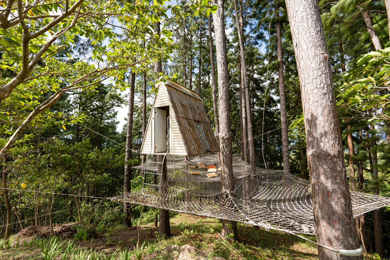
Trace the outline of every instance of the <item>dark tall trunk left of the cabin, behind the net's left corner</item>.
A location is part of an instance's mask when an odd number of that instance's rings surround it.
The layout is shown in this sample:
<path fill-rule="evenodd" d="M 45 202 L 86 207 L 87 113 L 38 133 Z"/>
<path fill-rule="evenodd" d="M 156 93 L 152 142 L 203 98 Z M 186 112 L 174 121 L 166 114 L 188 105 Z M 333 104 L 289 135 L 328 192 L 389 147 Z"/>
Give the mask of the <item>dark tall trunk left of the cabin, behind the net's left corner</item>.
<path fill-rule="evenodd" d="M 130 88 L 129 88 L 129 110 L 127 113 L 127 134 L 126 134 L 126 149 L 125 149 L 125 161 L 124 166 L 124 190 L 125 193 L 131 192 L 131 164 L 128 162 L 131 160 L 131 150 L 133 148 L 133 113 L 134 113 L 134 87 L 135 87 L 135 72 L 130 72 Z M 130 203 L 125 202 L 123 212 L 125 217 L 123 218 L 123 225 L 131 226 L 131 214 Z"/>

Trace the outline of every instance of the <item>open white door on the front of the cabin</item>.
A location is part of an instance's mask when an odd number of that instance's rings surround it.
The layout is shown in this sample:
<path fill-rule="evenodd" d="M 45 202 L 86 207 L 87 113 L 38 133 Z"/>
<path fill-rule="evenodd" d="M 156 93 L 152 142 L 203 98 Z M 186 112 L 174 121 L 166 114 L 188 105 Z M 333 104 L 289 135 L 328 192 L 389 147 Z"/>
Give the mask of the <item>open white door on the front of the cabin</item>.
<path fill-rule="evenodd" d="M 167 151 L 167 111 L 154 108 L 154 152 Z"/>

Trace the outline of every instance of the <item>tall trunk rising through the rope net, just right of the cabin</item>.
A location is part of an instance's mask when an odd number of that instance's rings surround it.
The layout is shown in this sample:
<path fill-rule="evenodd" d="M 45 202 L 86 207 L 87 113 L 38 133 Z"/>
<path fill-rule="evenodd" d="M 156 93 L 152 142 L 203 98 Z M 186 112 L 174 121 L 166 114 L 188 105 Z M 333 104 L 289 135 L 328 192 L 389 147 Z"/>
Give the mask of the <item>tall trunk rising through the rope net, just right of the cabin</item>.
<path fill-rule="evenodd" d="M 218 96 L 220 119 L 220 158 L 221 158 L 221 185 L 222 190 L 234 190 L 233 157 L 232 157 L 232 129 L 230 122 L 229 71 L 227 70 L 227 48 L 225 35 L 224 0 L 215 0 L 213 4 L 218 8 L 213 13 L 215 30 L 215 49 L 218 69 Z M 229 196 L 229 195 L 227 195 Z M 234 240 L 238 240 L 237 222 L 222 219 L 221 236 L 233 233 Z"/>

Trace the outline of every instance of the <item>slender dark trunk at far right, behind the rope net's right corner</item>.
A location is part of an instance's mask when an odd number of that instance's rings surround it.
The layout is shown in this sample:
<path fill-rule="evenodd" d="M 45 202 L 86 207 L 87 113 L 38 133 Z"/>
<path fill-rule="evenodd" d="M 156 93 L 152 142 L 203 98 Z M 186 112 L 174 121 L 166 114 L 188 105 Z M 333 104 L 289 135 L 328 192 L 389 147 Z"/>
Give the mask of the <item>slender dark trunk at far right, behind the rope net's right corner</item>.
<path fill-rule="evenodd" d="M 372 115 L 369 110 L 369 114 Z M 375 126 L 370 123 L 370 129 L 374 132 Z M 371 147 L 376 146 L 376 134 L 371 134 Z M 378 179 L 378 155 L 376 152 L 376 148 L 371 149 L 372 154 L 372 164 L 370 164 L 370 168 L 372 168 L 372 178 L 374 179 L 374 194 L 379 195 L 379 185 L 376 179 Z M 374 213 L 374 236 L 375 236 L 375 252 L 381 257 L 385 256 L 385 246 L 383 244 L 383 230 L 382 230 L 382 220 L 381 220 L 381 212 L 379 209 L 375 209 Z"/>

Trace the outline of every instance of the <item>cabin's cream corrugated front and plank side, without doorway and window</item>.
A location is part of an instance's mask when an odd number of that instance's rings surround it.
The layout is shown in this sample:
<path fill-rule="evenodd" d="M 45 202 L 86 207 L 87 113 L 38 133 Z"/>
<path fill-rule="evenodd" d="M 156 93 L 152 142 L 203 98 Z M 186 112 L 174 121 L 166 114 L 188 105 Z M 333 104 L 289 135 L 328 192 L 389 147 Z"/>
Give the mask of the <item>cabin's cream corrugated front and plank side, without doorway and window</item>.
<path fill-rule="evenodd" d="M 173 81 L 160 82 L 142 142 L 141 154 L 149 154 L 154 147 L 154 108 L 169 106 L 170 154 L 194 156 L 219 150 L 202 99 L 188 88 Z M 199 122 L 210 151 L 206 151 L 196 126 Z M 152 153 L 154 149 L 152 150 Z"/>

